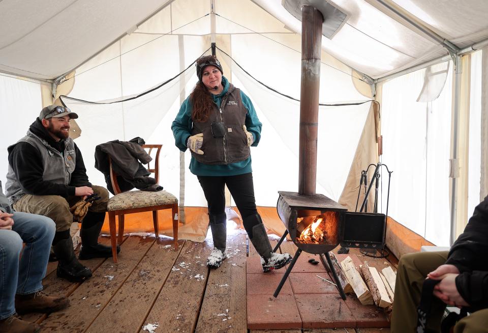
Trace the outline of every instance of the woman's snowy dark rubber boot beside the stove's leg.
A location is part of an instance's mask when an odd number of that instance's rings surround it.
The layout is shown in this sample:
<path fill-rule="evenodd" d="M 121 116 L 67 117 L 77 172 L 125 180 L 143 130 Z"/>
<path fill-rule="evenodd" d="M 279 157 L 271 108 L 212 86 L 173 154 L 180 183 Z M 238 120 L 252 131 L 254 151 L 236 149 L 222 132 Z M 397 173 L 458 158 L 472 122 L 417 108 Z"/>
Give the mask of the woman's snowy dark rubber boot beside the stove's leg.
<path fill-rule="evenodd" d="M 261 256 L 261 265 L 264 272 L 282 268 L 293 259 L 288 253 L 279 254 L 272 252 L 266 229 L 264 229 L 264 224 L 259 214 L 246 217 L 243 219 L 243 224 L 245 227 L 247 226 L 246 231 L 248 231 L 249 240 Z"/>

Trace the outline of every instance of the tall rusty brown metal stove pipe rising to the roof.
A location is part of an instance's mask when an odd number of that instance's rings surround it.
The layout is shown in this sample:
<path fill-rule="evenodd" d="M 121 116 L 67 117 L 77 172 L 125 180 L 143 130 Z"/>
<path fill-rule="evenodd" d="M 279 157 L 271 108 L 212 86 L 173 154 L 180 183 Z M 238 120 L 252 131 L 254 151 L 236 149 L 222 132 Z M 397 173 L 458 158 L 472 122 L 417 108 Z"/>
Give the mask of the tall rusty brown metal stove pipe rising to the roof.
<path fill-rule="evenodd" d="M 322 13 L 313 6 L 301 9 L 301 89 L 298 193 L 315 195 L 319 120 Z"/>

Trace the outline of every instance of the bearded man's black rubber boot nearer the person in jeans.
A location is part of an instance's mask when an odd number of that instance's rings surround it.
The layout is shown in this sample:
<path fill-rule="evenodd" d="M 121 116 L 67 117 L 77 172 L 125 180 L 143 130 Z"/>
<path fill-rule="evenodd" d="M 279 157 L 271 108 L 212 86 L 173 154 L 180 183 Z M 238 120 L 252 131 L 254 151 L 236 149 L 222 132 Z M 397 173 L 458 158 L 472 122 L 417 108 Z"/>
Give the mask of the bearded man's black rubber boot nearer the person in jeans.
<path fill-rule="evenodd" d="M 58 277 L 70 282 L 82 282 L 92 276 L 92 271 L 76 259 L 71 237 L 59 240 L 53 245 L 53 249 L 58 259 L 56 269 Z"/>

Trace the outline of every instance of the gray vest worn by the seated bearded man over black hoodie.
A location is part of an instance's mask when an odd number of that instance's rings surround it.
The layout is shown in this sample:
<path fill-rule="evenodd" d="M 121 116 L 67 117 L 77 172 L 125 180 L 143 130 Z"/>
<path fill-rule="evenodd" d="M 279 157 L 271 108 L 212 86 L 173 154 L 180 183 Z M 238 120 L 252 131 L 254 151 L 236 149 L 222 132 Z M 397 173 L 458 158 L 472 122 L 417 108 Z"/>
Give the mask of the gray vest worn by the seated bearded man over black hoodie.
<path fill-rule="evenodd" d="M 30 130 L 27 131 L 27 135 L 22 137 L 19 142 L 26 142 L 36 147 L 41 153 L 43 174 L 42 179 L 44 181 L 53 182 L 55 184 L 69 185 L 71 181 L 71 174 L 75 170 L 76 165 L 76 153 L 75 143 L 73 139 L 69 137 L 65 140 L 64 153 L 58 152 L 56 149 L 49 146 L 46 140 L 40 138 Z M 15 145 L 16 145 L 15 144 Z M 13 147 L 12 145 L 11 147 Z M 9 147 L 9 150 L 11 149 Z M 9 198 L 13 204 L 19 200 L 25 194 L 21 188 L 18 178 L 9 163 L 9 172 L 7 174 L 7 184 L 5 184 L 5 195 Z M 36 193 L 29 193 L 35 195 Z"/>

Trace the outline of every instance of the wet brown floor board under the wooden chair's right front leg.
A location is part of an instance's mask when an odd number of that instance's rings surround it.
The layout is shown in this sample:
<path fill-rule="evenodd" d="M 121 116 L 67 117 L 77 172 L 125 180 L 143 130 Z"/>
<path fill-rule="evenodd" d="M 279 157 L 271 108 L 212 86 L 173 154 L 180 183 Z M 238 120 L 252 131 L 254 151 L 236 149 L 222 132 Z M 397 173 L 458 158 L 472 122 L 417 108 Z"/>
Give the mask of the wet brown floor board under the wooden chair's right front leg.
<path fill-rule="evenodd" d="M 184 240 L 158 239 L 86 332 L 138 332 L 171 272 Z M 126 314 L 130 314 L 127 316 Z"/>

